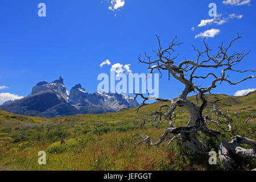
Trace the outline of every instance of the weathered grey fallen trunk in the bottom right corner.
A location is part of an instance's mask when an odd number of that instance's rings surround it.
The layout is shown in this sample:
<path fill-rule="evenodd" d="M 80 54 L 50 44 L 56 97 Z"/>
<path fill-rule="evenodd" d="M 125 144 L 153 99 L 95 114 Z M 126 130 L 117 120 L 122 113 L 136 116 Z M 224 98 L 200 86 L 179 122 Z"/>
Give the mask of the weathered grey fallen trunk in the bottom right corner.
<path fill-rule="evenodd" d="M 240 145 L 242 143 L 250 144 L 252 148 L 243 148 Z M 256 142 L 254 140 L 237 135 L 232 138 L 231 142 L 223 141 L 218 144 L 218 158 L 226 168 L 234 170 L 236 169 L 236 159 L 232 156 L 237 155 L 243 159 L 254 159 L 256 158 L 255 149 Z"/>

